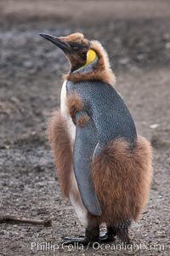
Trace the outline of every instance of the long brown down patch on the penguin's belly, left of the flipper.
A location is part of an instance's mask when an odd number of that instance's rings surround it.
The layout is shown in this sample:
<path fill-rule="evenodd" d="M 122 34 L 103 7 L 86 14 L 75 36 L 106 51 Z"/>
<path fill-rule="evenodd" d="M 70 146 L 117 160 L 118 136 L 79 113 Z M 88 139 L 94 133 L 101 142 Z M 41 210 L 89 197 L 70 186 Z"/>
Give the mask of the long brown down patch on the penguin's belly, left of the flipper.
<path fill-rule="evenodd" d="M 61 193 L 64 197 L 68 197 L 72 153 L 68 132 L 65 130 L 65 121 L 62 119 L 60 111 L 55 112 L 48 123 L 48 142 L 54 156 Z"/>

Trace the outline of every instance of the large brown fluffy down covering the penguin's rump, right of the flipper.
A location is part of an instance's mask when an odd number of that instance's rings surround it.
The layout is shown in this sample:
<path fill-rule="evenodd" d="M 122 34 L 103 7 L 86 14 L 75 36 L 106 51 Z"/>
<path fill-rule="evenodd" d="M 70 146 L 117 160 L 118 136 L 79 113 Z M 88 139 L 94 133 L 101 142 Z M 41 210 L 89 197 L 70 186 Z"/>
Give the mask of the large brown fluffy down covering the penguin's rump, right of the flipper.
<path fill-rule="evenodd" d="M 137 220 L 150 191 L 152 151 L 144 137 L 138 137 L 133 151 L 122 139 L 110 143 L 92 163 L 92 179 L 102 216 L 88 213 L 93 224 Z"/>

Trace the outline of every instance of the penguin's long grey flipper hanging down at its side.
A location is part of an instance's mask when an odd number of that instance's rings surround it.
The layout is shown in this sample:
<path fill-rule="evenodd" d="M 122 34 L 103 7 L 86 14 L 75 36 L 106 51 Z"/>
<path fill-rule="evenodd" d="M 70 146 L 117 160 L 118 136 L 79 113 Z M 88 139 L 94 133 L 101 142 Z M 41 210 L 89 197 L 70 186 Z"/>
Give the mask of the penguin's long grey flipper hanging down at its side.
<path fill-rule="evenodd" d="M 78 112 L 75 116 L 77 129 L 73 150 L 73 168 L 84 206 L 88 212 L 100 216 L 102 211 L 90 175 L 91 160 L 97 143 L 95 126 L 89 117 L 85 125 L 81 125 L 80 122 L 81 119 L 87 117 L 88 114 L 85 111 Z"/>

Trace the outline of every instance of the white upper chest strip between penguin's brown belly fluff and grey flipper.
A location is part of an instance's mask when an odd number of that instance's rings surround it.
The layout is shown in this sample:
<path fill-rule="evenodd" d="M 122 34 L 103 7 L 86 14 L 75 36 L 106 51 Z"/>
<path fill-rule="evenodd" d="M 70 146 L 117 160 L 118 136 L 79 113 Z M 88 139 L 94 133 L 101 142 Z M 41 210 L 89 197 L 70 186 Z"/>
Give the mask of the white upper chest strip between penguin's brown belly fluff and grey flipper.
<path fill-rule="evenodd" d="M 74 123 L 71 119 L 69 109 L 67 107 L 66 83 L 67 83 L 67 81 L 65 80 L 65 82 L 62 85 L 62 89 L 61 89 L 60 113 L 61 113 L 62 118 L 65 120 L 65 125 L 66 125 L 67 131 L 69 133 L 69 137 L 71 139 L 71 148 L 73 149 L 75 136 L 76 136 L 76 126 L 74 125 Z"/>

